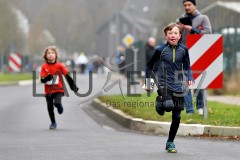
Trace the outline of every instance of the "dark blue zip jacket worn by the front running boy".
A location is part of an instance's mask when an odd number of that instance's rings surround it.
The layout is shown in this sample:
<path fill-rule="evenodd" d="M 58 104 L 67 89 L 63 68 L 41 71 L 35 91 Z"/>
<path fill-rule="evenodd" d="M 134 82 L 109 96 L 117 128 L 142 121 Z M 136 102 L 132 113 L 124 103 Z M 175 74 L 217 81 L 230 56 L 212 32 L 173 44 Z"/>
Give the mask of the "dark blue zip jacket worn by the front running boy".
<path fill-rule="evenodd" d="M 158 87 L 167 87 L 174 92 L 184 92 L 186 90 L 184 75 L 187 75 L 188 80 L 194 81 L 186 46 L 180 43 L 172 46 L 167 42 L 157 47 L 147 63 L 146 78 L 150 78 L 155 61 L 159 61 Z"/>

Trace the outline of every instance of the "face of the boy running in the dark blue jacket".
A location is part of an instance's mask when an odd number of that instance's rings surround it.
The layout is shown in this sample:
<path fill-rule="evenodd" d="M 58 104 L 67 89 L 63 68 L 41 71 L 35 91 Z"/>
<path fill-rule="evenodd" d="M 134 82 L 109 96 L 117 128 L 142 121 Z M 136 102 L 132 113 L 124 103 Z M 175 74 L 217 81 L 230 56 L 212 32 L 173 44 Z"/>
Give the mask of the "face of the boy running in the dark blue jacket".
<path fill-rule="evenodd" d="M 166 40 L 171 45 L 177 45 L 179 39 L 181 38 L 181 34 L 179 33 L 178 27 L 173 27 L 172 30 L 167 31 L 167 34 L 165 35 Z"/>

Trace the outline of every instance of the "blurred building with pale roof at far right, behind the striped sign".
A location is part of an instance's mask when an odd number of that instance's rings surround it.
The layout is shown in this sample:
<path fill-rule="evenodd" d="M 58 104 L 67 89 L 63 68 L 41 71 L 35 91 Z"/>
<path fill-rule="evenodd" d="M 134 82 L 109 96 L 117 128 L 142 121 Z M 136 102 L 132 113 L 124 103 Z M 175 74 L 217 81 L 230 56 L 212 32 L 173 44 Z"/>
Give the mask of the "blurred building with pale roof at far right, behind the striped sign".
<path fill-rule="evenodd" d="M 240 2 L 217 1 L 201 12 L 208 15 L 213 33 L 223 34 L 224 74 L 232 76 L 240 70 Z"/>

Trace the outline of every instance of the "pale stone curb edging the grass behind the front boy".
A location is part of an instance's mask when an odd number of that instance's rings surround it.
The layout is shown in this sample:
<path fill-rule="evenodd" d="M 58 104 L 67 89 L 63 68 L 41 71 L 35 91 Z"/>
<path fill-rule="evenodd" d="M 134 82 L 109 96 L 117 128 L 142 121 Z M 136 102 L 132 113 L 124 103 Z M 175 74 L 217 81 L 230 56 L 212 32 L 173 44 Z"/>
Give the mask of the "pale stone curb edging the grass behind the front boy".
<path fill-rule="evenodd" d="M 105 113 L 120 125 L 131 130 L 155 134 L 168 134 L 169 132 L 171 125 L 170 122 L 149 121 L 140 118 L 134 118 L 123 113 L 121 110 L 115 109 L 111 106 L 106 106 L 105 103 L 101 102 L 98 99 L 93 100 L 92 106 L 95 109 L 98 109 L 101 112 Z M 240 127 L 223 127 L 181 123 L 177 135 L 240 136 Z"/>

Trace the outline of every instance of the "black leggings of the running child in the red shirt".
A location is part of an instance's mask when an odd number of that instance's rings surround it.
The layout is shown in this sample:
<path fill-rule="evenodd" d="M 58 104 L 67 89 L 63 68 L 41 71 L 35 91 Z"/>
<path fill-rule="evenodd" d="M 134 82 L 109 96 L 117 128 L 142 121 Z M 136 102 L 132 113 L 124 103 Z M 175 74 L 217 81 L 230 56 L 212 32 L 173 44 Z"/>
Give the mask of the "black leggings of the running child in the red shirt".
<path fill-rule="evenodd" d="M 61 103 L 62 96 L 63 96 L 63 93 L 60 93 L 60 92 L 53 93 L 51 95 L 46 96 L 48 114 L 52 123 L 56 123 L 55 115 L 54 115 L 54 106 L 55 107 L 62 106 L 62 103 Z"/>

